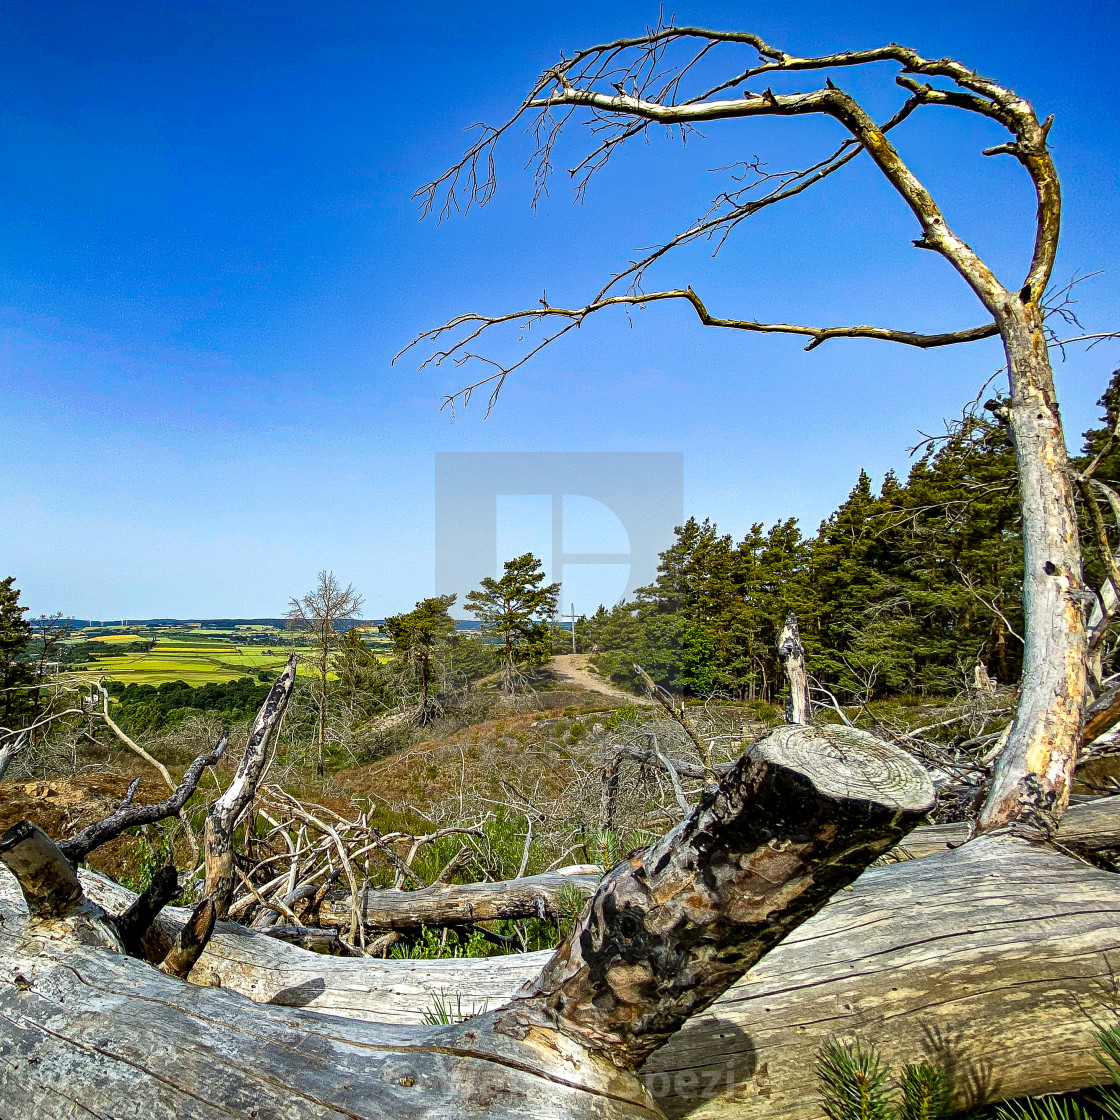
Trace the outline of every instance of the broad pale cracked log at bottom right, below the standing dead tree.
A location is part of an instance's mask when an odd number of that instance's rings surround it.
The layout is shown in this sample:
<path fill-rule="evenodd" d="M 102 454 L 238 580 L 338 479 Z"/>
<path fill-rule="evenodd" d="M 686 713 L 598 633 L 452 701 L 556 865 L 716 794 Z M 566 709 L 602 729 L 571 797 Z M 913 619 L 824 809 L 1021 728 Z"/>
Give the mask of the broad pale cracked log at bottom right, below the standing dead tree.
<path fill-rule="evenodd" d="M 669 1117 L 816 1120 L 816 1052 L 878 1047 L 946 1074 L 955 1105 L 1103 1077 L 1120 877 L 1007 836 L 872 868 L 646 1063 Z"/>

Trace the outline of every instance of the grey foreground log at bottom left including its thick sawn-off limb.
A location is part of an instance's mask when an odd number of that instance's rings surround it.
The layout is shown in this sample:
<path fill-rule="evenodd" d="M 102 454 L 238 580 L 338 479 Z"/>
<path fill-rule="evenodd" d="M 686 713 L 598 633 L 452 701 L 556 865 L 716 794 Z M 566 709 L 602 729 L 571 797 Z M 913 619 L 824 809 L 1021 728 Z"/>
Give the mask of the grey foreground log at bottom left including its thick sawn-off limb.
<path fill-rule="evenodd" d="M 250 1014 L 234 992 L 183 983 L 67 935 L 68 915 L 48 923 L 26 904 L 6 904 L 0 1114 L 656 1117 L 627 1068 L 634 1056 L 715 999 L 931 803 L 928 778 L 908 756 L 867 736 L 840 738 L 784 728 L 754 745 L 687 821 L 607 877 L 552 969 L 514 1008 L 458 1026 L 276 1006 Z M 29 842 L 21 837 L 17 848 Z M 22 886 L 27 862 L 4 862 Z M 31 867 L 32 887 L 47 862 Z M 47 894 L 53 908 L 96 912 L 81 892 L 74 897 L 73 881 Z M 212 902 L 192 927 L 212 920 Z M 653 906 L 647 918 L 643 906 Z M 682 923 L 690 912 L 697 921 Z M 200 939 L 188 931 L 178 944 L 190 940 Z M 655 991 L 619 971 L 634 967 L 651 973 Z M 612 1000 L 622 1014 L 612 1016 Z"/>

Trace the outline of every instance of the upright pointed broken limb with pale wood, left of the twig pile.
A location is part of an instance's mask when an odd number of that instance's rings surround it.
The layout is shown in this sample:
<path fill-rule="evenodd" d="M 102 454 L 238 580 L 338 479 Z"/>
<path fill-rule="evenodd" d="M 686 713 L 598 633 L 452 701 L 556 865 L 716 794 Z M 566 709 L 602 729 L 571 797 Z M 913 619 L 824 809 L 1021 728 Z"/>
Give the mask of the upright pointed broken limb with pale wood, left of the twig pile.
<path fill-rule="evenodd" d="M 214 899 L 218 917 L 225 916 L 233 899 L 233 830 L 256 793 L 274 732 L 283 719 L 295 685 L 296 655 L 292 654 L 253 720 L 237 773 L 206 814 L 203 833 L 206 848 L 206 894 Z"/>

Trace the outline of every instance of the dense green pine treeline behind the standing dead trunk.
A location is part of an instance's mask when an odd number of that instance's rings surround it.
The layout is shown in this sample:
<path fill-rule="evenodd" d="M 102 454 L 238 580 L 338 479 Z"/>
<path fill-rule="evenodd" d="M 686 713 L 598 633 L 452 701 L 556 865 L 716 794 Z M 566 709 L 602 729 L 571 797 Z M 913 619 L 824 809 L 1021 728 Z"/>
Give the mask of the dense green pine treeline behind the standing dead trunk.
<path fill-rule="evenodd" d="M 1105 446 L 1120 416 L 1120 371 L 1099 403 L 1101 427 L 1085 432 L 1081 461 Z M 1120 478 L 1116 447 L 1096 477 Z M 655 582 L 632 603 L 600 608 L 579 633 L 617 682 L 633 684 L 637 663 L 692 694 L 781 693 L 775 646 L 791 612 L 813 675 L 849 697 L 951 693 L 978 664 L 1014 684 L 1023 634 L 1017 486 L 1006 429 L 968 416 L 925 444 L 905 482 L 888 474 L 876 491 L 861 472 L 814 535 L 791 517 L 735 541 L 690 519 L 662 553 Z M 1086 578 L 1099 586 L 1084 521 Z"/>

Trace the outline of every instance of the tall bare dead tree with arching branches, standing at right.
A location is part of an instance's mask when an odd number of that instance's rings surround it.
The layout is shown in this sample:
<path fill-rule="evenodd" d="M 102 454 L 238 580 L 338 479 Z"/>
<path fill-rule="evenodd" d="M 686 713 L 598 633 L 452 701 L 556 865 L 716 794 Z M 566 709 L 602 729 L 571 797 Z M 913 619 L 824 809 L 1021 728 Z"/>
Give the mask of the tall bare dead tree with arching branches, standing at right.
<path fill-rule="evenodd" d="M 747 57 L 739 57 L 743 54 Z M 725 59 L 722 68 L 720 59 Z M 905 96 L 888 120 L 877 122 L 840 83 L 852 69 L 880 63 L 897 68 L 895 82 Z M 822 81 L 808 84 L 802 92 L 776 92 L 767 84 L 780 76 L 785 90 L 800 75 L 820 75 Z M 946 109 L 999 125 L 1006 140 L 984 155 L 1017 160 L 1034 187 L 1038 207 L 1030 265 L 1026 276 L 1014 281 L 997 278 L 950 226 L 890 141 L 890 133 L 912 118 Z M 809 351 L 837 338 L 930 348 L 998 336 L 1010 388 L 1006 414 L 1000 411 L 1018 464 L 1026 635 L 1021 700 L 996 766 L 980 828 L 1016 822 L 1045 830 L 1068 801 L 1086 699 L 1084 613 L 1091 601 L 1082 581 L 1074 496 L 1044 324 L 1043 300 L 1062 216 L 1057 171 L 1047 147 L 1053 119 L 1039 121 L 1024 97 L 962 63 L 925 58 L 898 44 L 802 58 L 747 31 L 657 27 L 562 57 L 538 78 L 508 121 L 484 128 L 464 158 L 421 188 L 418 197 L 426 212 L 445 215 L 485 204 L 496 185 L 495 146 L 514 125 L 525 122 L 538 140 L 539 196 L 556 142 L 573 120 L 586 120 L 594 137 L 591 149 L 571 169 L 581 195 L 590 177 L 627 140 L 645 136 L 653 125 L 687 134 L 721 121 L 786 116 L 828 118 L 836 122 L 841 139 L 831 152 L 802 170 L 773 175 L 757 161 L 738 165 L 732 171 L 736 183 L 713 199 L 702 217 L 632 261 L 581 306 L 553 307 L 542 299 L 532 308 L 502 315 L 470 311 L 422 333 L 416 343 L 432 345 L 428 362 L 450 358 L 461 364 L 476 358 L 486 363 L 485 376 L 448 399 L 454 407 L 457 401 L 469 401 L 483 386 L 489 388 L 493 405 L 511 373 L 589 316 L 666 300 L 687 304 L 706 326 L 800 336 Z M 700 239 L 719 244 L 753 214 L 825 181 L 865 157 L 914 215 L 918 232 L 914 244 L 943 258 L 958 272 L 983 308 L 983 321 L 936 334 L 885 326 L 763 323 L 716 314 L 691 284 L 661 290 L 644 286 L 648 270 L 673 250 Z M 480 335 L 503 325 L 530 339 L 520 360 L 503 364 L 470 348 Z M 530 327 L 540 327 L 541 333 L 529 334 Z"/>

